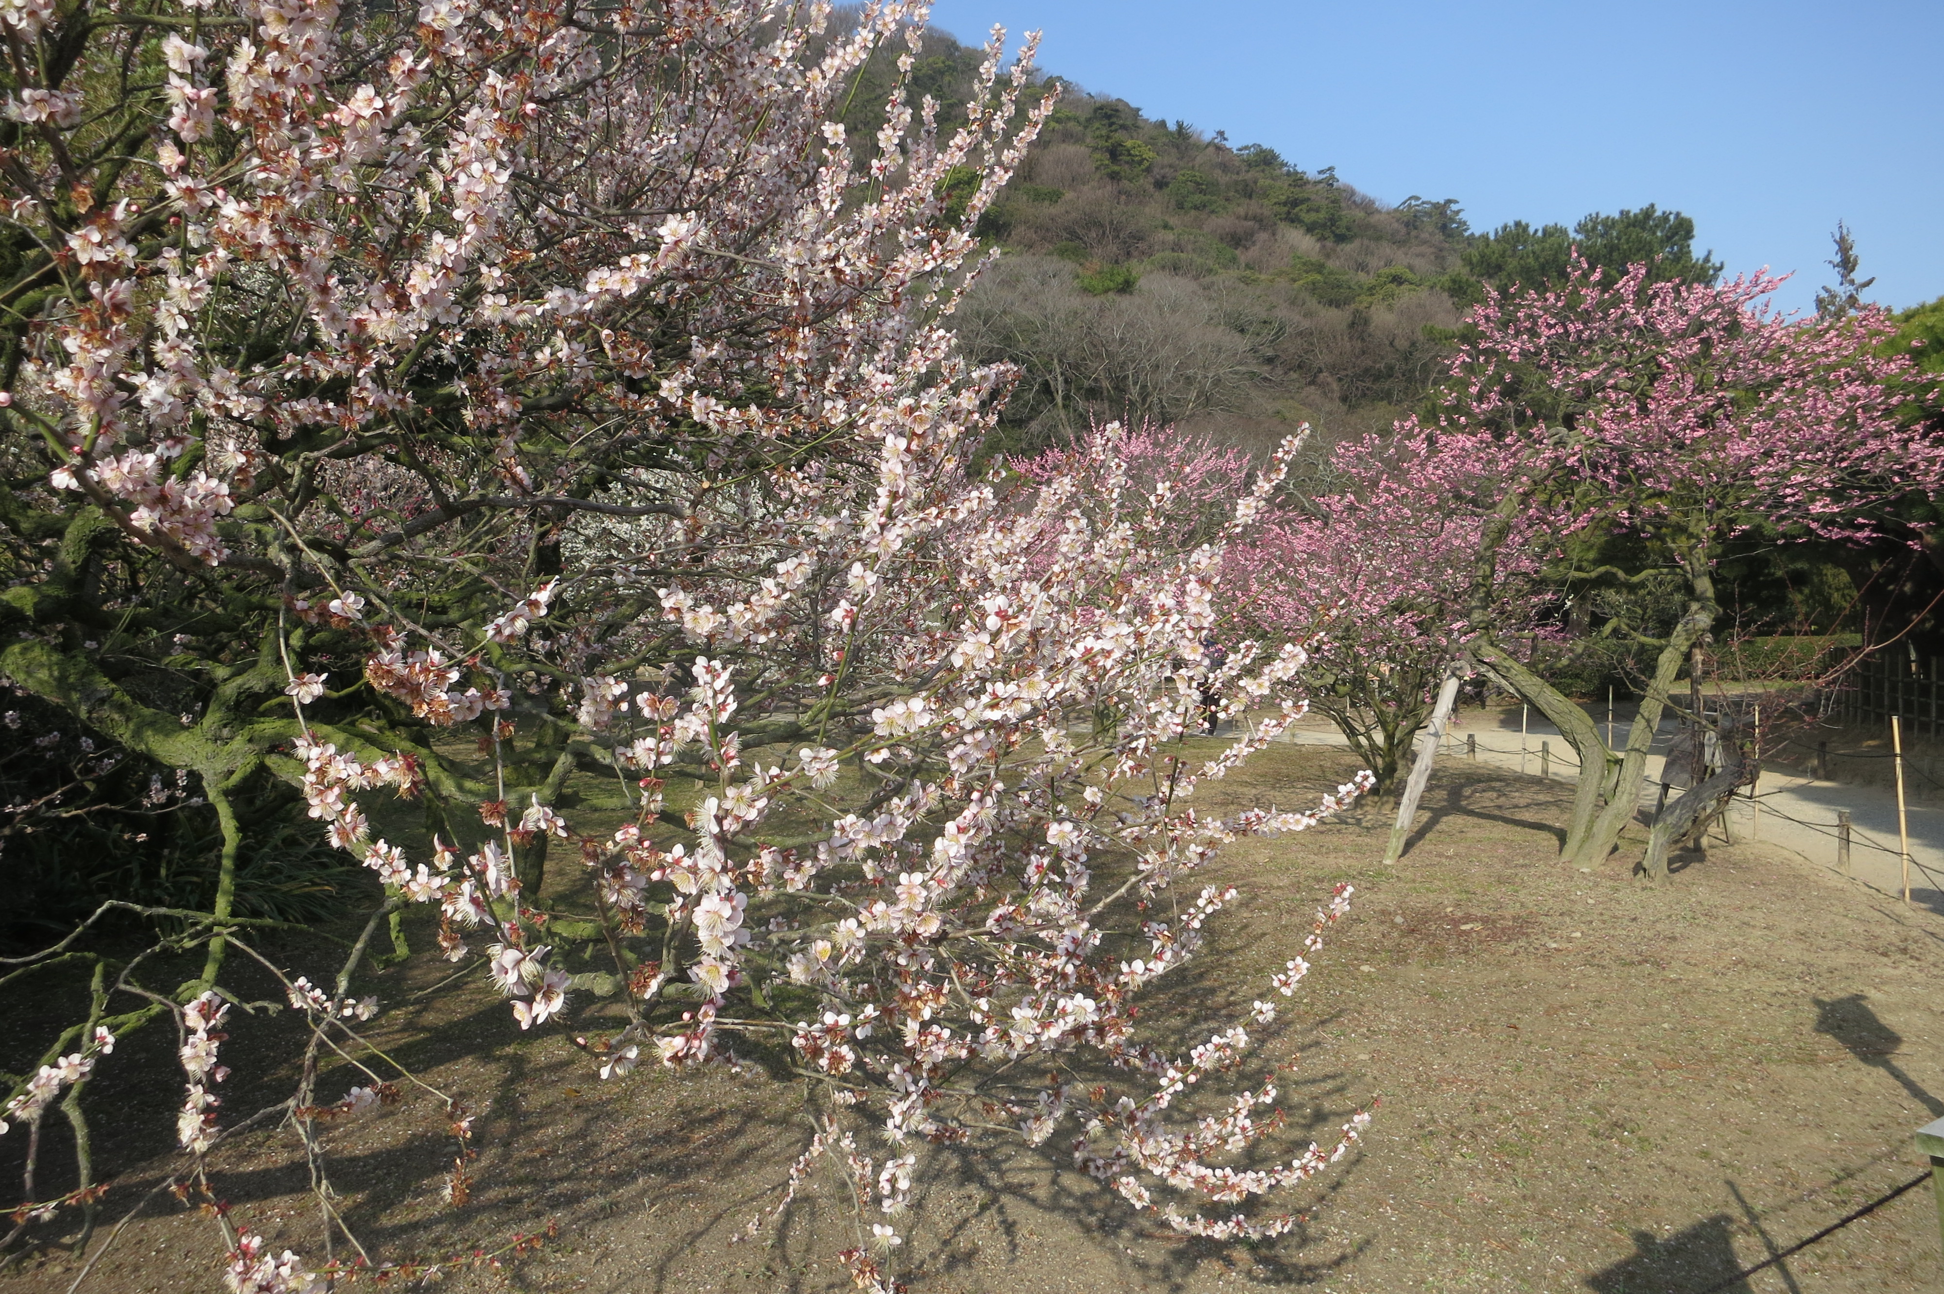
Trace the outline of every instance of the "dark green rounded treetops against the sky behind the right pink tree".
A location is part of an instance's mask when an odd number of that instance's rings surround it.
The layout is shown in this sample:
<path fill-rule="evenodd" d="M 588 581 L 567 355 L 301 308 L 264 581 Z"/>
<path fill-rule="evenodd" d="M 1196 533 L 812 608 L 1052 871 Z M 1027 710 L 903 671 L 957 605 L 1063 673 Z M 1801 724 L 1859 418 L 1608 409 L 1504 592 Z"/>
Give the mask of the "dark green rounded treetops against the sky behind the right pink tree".
<path fill-rule="evenodd" d="M 1649 282 L 1685 280 L 1713 284 L 1720 278 L 1720 262 L 1711 255 L 1693 253 L 1695 221 L 1680 212 L 1662 212 L 1652 204 L 1637 212 L 1602 216 L 1594 212 L 1573 229 L 1540 225 L 1522 220 L 1477 235 L 1464 253 L 1464 270 L 1493 288 L 1524 284 L 1545 288 L 1565 282 L 1573 251 L 1604 278 L 1615 278 L 1629 264 L 1650 262 Z"/>

